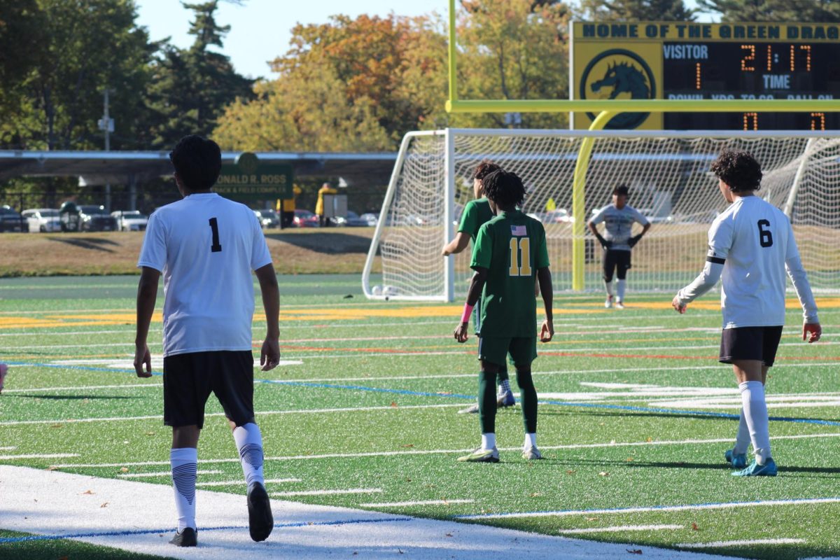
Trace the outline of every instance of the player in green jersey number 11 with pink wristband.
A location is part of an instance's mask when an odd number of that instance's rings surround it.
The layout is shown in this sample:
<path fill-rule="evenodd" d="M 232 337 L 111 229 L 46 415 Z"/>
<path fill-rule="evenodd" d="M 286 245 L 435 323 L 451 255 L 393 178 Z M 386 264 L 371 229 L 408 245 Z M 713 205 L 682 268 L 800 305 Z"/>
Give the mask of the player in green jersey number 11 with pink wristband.
<path fill-rule="evenodd" d="M 554 337 L 551 271 L 543 224 L 517 207 L 525 198 L 525 186 L 517 175 L 497 170 L 482 181 L 484 194 L 496 217 L 479 229 L 470 266 L 475 270 L 464 314 L 454 337 L 459 343 L 469 338 L 470 314 L 481 299 L 478 357 L 479 417 L 481 446 L 459 461 L 498 463 L 496 448 L 496 374 L 510 353 L 517 369 L 522 395 L 525 443 L 522 458 L 541 458 L 537 448 L 537 390 L 531 379 L 531 362 L 537 357 L 537 301 L 535 277 L 545 306 L 540 340 Z M 483 291 L 482 291 L 483 290 Z"/>

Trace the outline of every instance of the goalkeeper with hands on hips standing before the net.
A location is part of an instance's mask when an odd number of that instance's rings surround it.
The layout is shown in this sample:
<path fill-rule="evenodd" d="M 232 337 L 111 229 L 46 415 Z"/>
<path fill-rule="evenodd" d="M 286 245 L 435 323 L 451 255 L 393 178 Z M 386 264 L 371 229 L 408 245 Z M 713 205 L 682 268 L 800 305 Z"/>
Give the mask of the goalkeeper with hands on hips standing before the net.
<path fill-rule="evenodd" d="M 604 267 L 604 287 L 606 288 L 606 308 L 612 307 L 612 275 L 618 277 L 616 282 L 615 305 L 624 309 L 624 291 L 627 289 L 627 270 L 630 270 L 630 251 L 636 243 L 650 229 L 648 218 L 641 212 L 627 205 L 629 197 L 627 186 L 619 185 L 612 191 L 612 204 L 601 208 L 592 219 L 587 222 L 591 232 L 604 249 L 602 264 Z M 605 235 L 598 233 L 596 226 L 604 222 Z M 642 233 L 631 235 L 633 222 L 642 224 Z"/>

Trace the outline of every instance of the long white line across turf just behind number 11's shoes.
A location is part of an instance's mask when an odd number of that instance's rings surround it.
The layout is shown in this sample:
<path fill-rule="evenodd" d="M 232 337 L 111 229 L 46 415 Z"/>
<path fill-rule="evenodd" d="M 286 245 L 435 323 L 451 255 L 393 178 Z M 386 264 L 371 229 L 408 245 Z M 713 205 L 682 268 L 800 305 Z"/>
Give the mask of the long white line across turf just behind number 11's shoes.
<path fill-rule="evenodd" d="M 771 440 L 779 439 L 808 439 L 811 437 L 840 437 L 840 433 L 815 433 L 801 434 L 796 436 L 773 436 Z M 609 442 L 609 443 L 572 443 L 567 445 L 540 445 L 542 450 L 546 449 L 588 449 L 600 447 L 636 447 L 636 446 L 657 446 L 657 445 L 703 445 L 706 443 L 731 443 L 732 437 L 720 439 L 686 439 L 662 442 Z M 499 447 L 500 451 L 522 451 L 522 447 Z M 266 457 L 264 461 L 299 461 L 305 459 L 330 459 L 330 458 L 360 458 L 360 457 L 391 457 L 394 455 L 438 455 L 445 453 L 468 453 L 475 451 L 475 447 L 465 449 L 406 449 L 401 451 L 371 451 L 365 453 L 323 453 L 320 455 L 288 455 L 281 457 Z M 202 463 L 239 463 L 238 458 L 225 459 L 202 459 Z M 98 467 L 148 467 L 153 465 L 168 465 L 169 461 L 144 461 L 137 463 L 63 463 L 52 465 L 55 468 L 98 468 Z"/>

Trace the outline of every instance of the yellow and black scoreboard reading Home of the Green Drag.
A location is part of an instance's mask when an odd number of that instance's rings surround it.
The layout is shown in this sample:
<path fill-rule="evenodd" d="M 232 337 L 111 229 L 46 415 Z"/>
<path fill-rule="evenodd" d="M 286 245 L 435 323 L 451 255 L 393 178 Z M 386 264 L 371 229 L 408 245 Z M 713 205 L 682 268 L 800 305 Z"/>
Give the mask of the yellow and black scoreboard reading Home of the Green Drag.
<path fill-rule="evenodd" d="M 570 24 L 571 99 L 840 98 L 840 24 Z M 574 113 L 572 128 L 596 115 Z M 622 113 L 606 128 L 840 130 L 840 113 Z"/>

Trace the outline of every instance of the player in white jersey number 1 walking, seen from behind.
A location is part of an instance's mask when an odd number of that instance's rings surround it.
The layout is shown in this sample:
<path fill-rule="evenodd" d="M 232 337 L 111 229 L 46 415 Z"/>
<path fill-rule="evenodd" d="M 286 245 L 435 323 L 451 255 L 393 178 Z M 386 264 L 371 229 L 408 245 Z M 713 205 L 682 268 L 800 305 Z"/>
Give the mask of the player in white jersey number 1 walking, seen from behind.
<path fill-rule="evenodd" d="M 260 352 L 263 371 L 280 362 L 277 277 L 254 212 L 211 191 L 222 165 L 218 144 L 186 136 L 170 160 L 184 198 L 158 208 L 146 228 L 137 264 L 142 272 L 134 369 L 138 377 L 152 374 L 146 340 L 163 273 L 164 423 L 172 427 L 170 461 L 178 510 L 171 543 L 197 545 L 197 445 L 211 392 L 228 417 L 248 483 L 250 536 L 265 541 L 274 520 L 265 492 L 262 435 L 254 420 L 251 270 L 260 281 L 268 323 Z"/>

